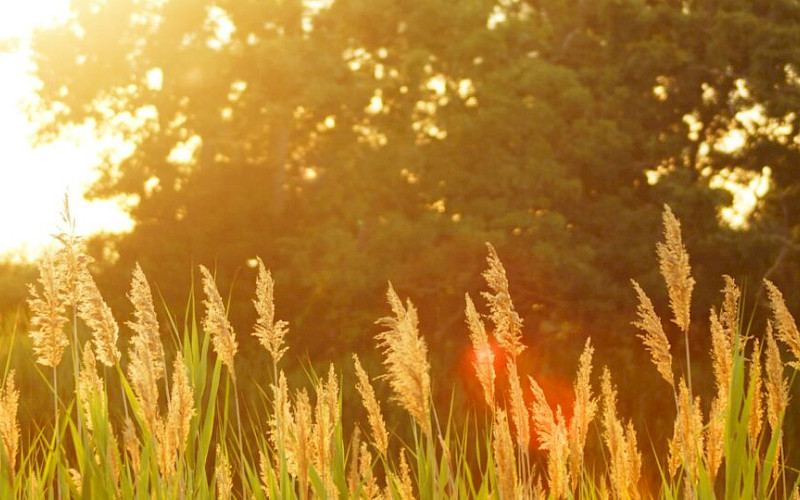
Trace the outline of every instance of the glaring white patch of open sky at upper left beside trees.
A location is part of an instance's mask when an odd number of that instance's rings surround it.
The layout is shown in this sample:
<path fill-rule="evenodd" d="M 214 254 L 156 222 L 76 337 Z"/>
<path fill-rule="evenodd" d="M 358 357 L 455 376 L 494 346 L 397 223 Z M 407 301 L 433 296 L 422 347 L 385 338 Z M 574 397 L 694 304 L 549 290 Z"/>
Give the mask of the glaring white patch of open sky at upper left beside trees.
<path fill-rule="evenodd" d="M 132 223 L 115 202 L 92 202 L 83 193 L 97 177 L 103 145 L 80 132 L 40 147 L 25 106 L 35 102 L 29 38 L 67 14 L 69 0 L 0 0 L 0 41 L 15 39 L 0 52 L 0 258 L 35 257 L 51 243 L 64 193 L 69 193 L 77 232 L 128 230 Z"/>

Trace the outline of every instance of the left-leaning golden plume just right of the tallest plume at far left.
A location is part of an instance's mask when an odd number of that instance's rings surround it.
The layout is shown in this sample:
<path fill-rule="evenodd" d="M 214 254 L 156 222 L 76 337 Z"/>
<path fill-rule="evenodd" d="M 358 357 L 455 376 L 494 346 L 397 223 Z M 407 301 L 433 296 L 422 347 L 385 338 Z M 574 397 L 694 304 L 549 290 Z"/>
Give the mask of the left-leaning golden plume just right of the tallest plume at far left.
<path fill-rule="evenodd" d="M 117 349 L 119 325 L 85 266 L 81 267 L 78 274 L 78 290 L 78 315 L 92 331 L 95 357 L 108 367 L 114 366 L 120 358 Z"/>

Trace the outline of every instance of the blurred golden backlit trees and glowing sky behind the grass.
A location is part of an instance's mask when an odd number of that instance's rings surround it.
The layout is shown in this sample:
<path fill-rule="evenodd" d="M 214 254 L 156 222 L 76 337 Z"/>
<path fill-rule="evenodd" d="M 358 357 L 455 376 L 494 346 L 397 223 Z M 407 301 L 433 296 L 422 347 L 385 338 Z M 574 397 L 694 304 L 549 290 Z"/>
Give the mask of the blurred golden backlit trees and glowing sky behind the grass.
<path fill-rule="evenodd" d="M 463 306 L 468 292 L 486 311 L 487 241 L 525 323 L 521 370 L 569 408 L 591 336 L 622 415 L 658 448 L 674 412 L 630 324 L 630 280 L 679 369 L 655 258 L 665 203 L 698 281 L 701 393 L 724 273 L 752 335 L 765 277 L 800 313 L 792 0 L 4 2 L 0 74 L 0 310 L 21 343 L 25 284 L 65 192 L 120 322 L 135 262 L 165 325 L 204 264 L 229 296 L 242 377 L 263 383 L 260 256 L 290 323 L 287 369 L 302 382 L 335 363 L 346 412 L 360 411 L 350 353 L 381 372 L 387 281 L 420 311 L 441 405 L 455 384 L 456 410 L 483 411 Z"/>

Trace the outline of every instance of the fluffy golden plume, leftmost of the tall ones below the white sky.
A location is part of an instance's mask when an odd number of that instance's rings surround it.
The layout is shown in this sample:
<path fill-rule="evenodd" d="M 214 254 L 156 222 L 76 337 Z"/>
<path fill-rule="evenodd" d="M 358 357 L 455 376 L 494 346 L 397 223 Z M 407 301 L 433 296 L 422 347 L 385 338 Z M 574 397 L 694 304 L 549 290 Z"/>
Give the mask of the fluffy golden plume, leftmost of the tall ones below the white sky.
<path fill-rule="evenodd" d="M 61 363 L 64 349 L 69 345 L 64 325 L 67 323 L 66 304 L 52 255 L 45 255 L 39 263 L 41 293 L 28 285 L 28 307 L 31 312 L 30 337 L 36 362 L 56 367 Z"/>

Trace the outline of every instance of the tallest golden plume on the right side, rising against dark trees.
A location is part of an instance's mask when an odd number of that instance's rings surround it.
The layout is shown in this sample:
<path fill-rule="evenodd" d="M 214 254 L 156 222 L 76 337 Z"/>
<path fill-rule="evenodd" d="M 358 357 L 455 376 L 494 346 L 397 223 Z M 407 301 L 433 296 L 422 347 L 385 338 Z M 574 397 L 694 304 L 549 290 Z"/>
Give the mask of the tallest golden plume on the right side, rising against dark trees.
<path fill-rule="evenodd" d="M 690 309 L 694 278 L 689 266 L 689 254 L 683 246 L 681 223 L 672 213 L 669 205 L 664 205 L 664 243 L 656 244 L 661 275 L 667 283 L 669 304 L 674 315 L 673 321 L 683 332 L 689 331 Z"/>

